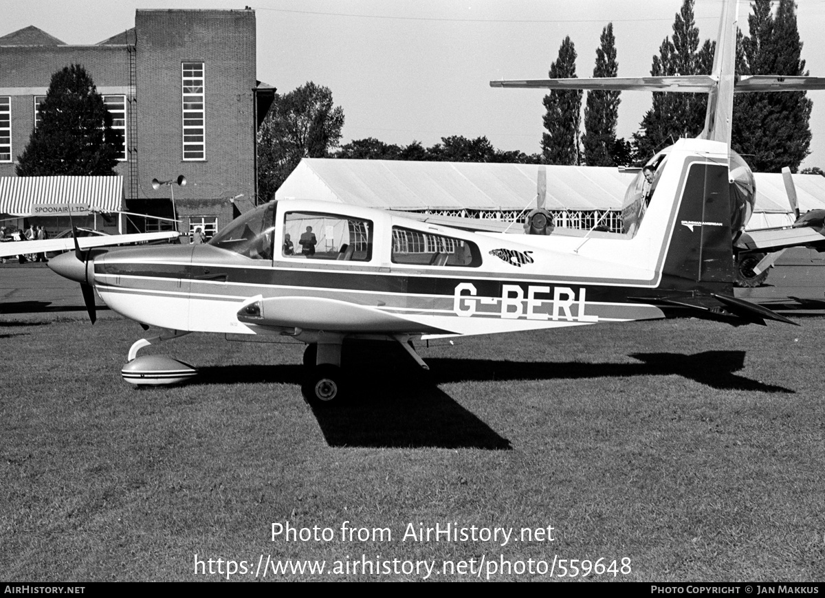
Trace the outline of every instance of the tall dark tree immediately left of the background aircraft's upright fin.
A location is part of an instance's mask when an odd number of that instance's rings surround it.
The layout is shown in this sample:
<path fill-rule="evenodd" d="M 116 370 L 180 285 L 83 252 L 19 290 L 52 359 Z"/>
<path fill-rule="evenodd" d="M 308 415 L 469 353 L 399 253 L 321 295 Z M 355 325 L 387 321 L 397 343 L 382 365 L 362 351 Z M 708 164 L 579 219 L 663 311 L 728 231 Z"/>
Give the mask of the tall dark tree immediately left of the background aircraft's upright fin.
<path fill-rule="evenodd" d="M 699 45 L 699 28 L 693 16 L 694 0 L 684 0 L 673 21 L 673 35 L 653 56 L 650 74 L 654 77 L 709 74 L 713 67 L 714 44 Z M 647 160 L 680 137 L 695 137 L 705 127 L 707 96 L 704 93 L 653 93 L 653 107 L 644 115 L 642 133 L 634 133 L 636 153 Z"/>

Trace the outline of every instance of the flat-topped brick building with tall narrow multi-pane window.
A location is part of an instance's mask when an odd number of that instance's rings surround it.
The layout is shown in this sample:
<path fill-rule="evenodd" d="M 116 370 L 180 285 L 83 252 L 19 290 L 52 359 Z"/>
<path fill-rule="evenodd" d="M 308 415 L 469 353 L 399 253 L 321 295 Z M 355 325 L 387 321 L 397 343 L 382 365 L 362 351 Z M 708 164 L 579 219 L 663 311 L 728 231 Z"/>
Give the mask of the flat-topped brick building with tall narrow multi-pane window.
<path fill-rule="evenodd" d="M 124 210 L 171 218 L 174 209 L 181 232 L 200 225 L 211 235 L 237 215 L 229 198 L 255 202 L 257 126 L 275 90 L 256 80 L 254 11 L 141 9 L 133 29 L 96 45 L 35 26 L 0 37 L 0 177 L 16 176 L 37 105 L 68 64 L 86 68 L 124 133 L 115 168 Z M 185 186 L 153 188 L 181 175 Z M 167 226 L 133 217 L 123 228 Z"/>

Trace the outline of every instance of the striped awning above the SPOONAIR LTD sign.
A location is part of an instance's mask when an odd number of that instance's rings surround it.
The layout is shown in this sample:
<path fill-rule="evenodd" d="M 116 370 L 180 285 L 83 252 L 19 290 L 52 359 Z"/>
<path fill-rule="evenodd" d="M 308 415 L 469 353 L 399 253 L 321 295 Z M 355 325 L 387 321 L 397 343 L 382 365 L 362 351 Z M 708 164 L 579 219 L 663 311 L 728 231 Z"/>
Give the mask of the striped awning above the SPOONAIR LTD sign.
<path fill-rule="evenodd" d="M 85 216 L 123 210 L 123 177 L 0 177 L 0 214 Z"/>

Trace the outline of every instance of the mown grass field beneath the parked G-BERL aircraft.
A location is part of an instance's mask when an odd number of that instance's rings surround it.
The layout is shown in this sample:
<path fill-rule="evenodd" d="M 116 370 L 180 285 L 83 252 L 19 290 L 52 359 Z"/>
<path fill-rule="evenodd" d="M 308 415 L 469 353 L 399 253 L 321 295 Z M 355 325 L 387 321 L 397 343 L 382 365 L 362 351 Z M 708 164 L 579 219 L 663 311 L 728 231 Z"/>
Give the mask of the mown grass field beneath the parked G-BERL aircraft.
<path fill-rule="evenodd" d="M 422 348 L 429 376 L 353 346 L 357 398 L 313 410 L 303 346 L 193 334 L 142 355 L 202 367 L 196 384 L 135 390 L 136 324 L 4 316 L 0 578 L 823 581 L 825 320 L 802 324 L 469 338 Z"/>

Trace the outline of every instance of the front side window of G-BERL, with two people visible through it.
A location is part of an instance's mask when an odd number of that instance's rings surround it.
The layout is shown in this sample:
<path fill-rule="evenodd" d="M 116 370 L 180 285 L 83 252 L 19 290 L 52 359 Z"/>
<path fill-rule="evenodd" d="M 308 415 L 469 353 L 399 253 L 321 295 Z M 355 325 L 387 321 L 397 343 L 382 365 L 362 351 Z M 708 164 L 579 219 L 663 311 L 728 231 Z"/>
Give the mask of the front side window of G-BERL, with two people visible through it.
<path fill-rule="evenodd" d="M 281 255 L 313 260 L 370 261 L 371 220 L 339 214 L 287 212 Z"/>

